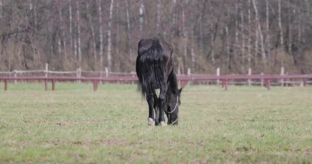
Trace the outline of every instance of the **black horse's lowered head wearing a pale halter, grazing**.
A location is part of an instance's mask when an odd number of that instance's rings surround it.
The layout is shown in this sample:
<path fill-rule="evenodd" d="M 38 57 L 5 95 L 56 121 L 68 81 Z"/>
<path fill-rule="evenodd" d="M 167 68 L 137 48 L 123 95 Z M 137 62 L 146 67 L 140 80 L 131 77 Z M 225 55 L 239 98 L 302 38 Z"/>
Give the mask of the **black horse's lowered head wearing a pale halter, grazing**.
<path fill-rule="evenodd" d="M 167 118 L 168 118 L 168 124 L 172 125 L 178 125 L 178 117 L 179 117 L 179 106 L 181 105 L 181 92 L 182 89 L 179 89 L 178 92 L 173 93 L 167 93 Z"/>

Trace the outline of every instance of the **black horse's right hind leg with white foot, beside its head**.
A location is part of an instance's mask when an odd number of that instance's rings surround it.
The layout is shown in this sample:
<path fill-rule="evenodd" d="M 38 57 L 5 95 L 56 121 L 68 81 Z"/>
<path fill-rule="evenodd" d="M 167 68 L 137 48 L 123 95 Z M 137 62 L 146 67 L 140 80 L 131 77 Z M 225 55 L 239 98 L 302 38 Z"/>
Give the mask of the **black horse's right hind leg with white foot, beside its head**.
<path fill-rule="evenodd" d="M 159 94 L 159 100 L 160 100 L 159 122 L 161 126 L 166 126 L 164 111 L 167 110 L 167 103 L 166 103 L 167 88 L 168 88 L 167 84 L 163 83 L 160 89 L 160 94 Z"/>

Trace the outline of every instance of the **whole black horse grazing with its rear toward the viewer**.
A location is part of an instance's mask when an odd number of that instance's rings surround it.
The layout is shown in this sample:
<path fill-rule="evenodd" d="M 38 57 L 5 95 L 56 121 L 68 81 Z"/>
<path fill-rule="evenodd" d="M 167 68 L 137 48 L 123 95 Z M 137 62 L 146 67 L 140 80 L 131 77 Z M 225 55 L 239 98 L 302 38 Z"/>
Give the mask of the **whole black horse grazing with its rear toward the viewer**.
<path fill-rule="evenodd" d="M 179 99 L 177 77 L 173 72 L 172 62 L 173 47 L 158 38 L 142 39 L 138 45 L 138 57 L 136 57 L 136 75 L 139 78 L 138 89 L 148 103 L 148 124 L 165 125 L 164 111 L 167 111 L 168 123 L 178 119 L 177 112 L 167 110 L 171 100 Z M 168 91 L 168 88 L 169 91 Z M 155 92 L 160 89 L 159 97 Z M 168 91 L 168 92 L 167 92 Z M 174 98 L 174 95 L 177 98 Z M 170 106 L 171 107 L 171 106 Z M 156 119 L 154 119 L 154 111 Z M 158 112 L 159 111 L 159 112 Z M 171 116 L 171 118 L 170 118 Z"/>

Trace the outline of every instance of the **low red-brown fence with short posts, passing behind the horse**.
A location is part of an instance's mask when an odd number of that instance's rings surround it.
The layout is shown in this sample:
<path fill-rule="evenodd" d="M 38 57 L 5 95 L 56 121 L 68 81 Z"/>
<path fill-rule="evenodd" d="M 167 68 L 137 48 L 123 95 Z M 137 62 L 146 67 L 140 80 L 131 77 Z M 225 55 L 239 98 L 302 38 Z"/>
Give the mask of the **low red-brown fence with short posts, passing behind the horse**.
<path fill-rule="evenodd" d="M 216 81 L 221 83 L 222 87 L 227 90 L 229 80 L 261 80 L 264 81 L 264 86 L 269 90 L 271 80 L 301 80 L 303 86 L 307 85 L 307 81 L 312 79 L 312 74 L 306 75 L 190 75 L 178 76 L 181 86 L 185 86 L 188 81 Z M 96 91 L 100 82 L 116 83 L 116 82 L 130 82 L 138 81 L 135 76 L 107 76 L 107 77 L 45 77 L 45 76 L 32 76 L 32 77 L 0 77 L 0 81 L 4 81 L 4 89 L 8 90 L 9 81 L 44 81 L 45 90 L 48 90 L 48 83 L 52 83 L 52 90 L 55 90 L 55 83 L 62 81 L 85 81 L 93 83 L 93 90 Z M 262 82 L 263 83 L 263 82 Z"/>

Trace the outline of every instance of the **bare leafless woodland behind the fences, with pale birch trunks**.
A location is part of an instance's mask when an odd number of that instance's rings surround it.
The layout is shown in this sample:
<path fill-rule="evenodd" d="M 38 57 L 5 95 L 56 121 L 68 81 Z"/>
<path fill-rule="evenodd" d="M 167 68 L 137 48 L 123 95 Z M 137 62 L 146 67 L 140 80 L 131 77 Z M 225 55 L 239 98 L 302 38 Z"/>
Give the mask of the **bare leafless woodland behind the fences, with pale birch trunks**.
<path fill-rule="evenodd" d="M 309 0 L 0 0 L 0 71 L 135 70 L 141 38 L 178 73 L 312 71 Z"/>

